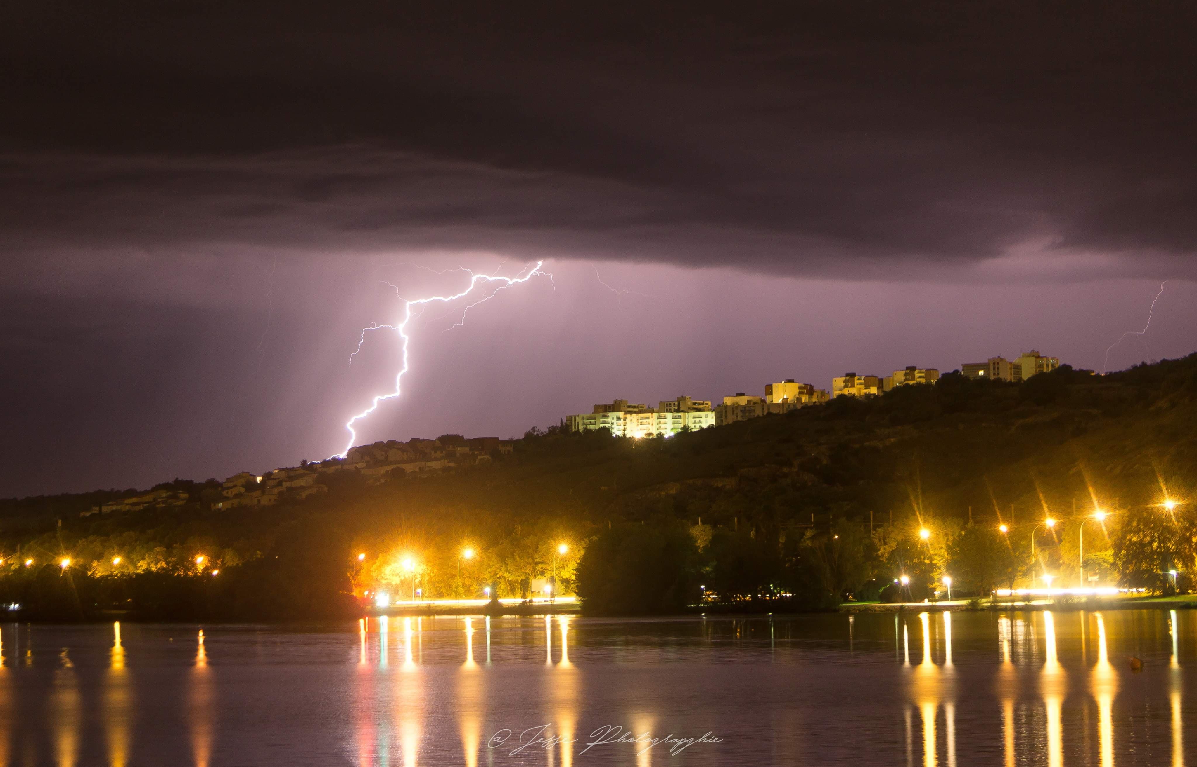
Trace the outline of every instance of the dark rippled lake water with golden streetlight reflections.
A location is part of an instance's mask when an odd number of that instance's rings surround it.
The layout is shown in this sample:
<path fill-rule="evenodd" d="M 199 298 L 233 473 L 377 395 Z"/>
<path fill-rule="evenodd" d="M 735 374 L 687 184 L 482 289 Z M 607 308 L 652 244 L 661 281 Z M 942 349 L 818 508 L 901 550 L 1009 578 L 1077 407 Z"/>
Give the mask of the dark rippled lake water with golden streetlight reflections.
<path fill-rule="evenodd" d="M 1197 611 L 0 629 L 0 765 L 1197 767 Z"/>

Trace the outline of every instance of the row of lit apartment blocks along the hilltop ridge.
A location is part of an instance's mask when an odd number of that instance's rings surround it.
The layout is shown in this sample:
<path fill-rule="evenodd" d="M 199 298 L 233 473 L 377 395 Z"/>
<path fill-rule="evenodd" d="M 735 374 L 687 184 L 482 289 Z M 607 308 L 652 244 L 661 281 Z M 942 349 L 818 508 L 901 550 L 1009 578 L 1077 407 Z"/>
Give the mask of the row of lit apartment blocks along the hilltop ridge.
<path fill-rule="evenodd" d="M 1032 349 L 1014 360 L 991 357 L 984 363 L 966 363 L 961 372 L 970 378 L 1021 382 L 1038 373 L 1059 367 L 1059 359 L 1044 357 Z M 940 371 L 934 367 L 907 365 L 891 376 L 859 376 L 844 373 L 832 378 L 831 394 L 815 389 L 814 384 L 786 378 L 780 383 L 765 384 L 765 395 L 757 396 L 737 391 L 723 397 L 723 404 L 711 407 L 706 400 L 682 396 L 662 401 L 649 408 L 632 404 L 627 400 L 615 400 L 596 404 L 591 413 L 566 415 L 565 426 L 572 432 L 606 428 L 616 437 L 672 437 L 681 431 L 724 426 L 762 415 L 779 415 L 808 404 L 827 402 L 832 397 L 875 397 L 898 386 L 935 383 Z"/>

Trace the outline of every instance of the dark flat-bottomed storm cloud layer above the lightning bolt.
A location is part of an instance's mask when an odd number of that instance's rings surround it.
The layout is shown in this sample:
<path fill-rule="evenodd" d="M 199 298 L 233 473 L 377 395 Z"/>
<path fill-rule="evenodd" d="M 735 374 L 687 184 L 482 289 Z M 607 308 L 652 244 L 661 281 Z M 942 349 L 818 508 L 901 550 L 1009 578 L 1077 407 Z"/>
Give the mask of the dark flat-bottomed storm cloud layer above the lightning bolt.
<path fill-rule="evenodd" d="M 10 4 L 6 248 L 1193 251 L 1186 4 L 437 7 Z"/>

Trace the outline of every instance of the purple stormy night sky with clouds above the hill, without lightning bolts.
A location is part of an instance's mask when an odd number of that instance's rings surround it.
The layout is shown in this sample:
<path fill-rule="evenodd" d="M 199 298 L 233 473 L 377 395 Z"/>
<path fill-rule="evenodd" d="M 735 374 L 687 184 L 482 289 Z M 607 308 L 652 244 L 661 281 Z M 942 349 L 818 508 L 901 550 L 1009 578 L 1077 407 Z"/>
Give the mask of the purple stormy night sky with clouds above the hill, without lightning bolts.
<path fill-rule="evenodd" d="M 1192 4 L 436 6 L 0 7 L 0 495 L 1197 349 Z"/>

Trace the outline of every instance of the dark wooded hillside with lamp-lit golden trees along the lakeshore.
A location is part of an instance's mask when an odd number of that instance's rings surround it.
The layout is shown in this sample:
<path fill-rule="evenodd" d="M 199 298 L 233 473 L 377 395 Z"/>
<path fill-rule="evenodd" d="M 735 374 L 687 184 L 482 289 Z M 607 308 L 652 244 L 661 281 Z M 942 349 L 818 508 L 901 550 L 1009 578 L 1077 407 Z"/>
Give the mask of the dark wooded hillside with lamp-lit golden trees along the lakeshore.
<path fill-rule="evenodd" d="M 1058 524 L 1039 529 L 1035 572 L 1075 583 L 1077 525 L 1094 505 L 1108 516 L 1086 525 L 1087 576 L 1166 590 L 1177 570 L 1185 590 L 1195 396 L 1197 355 L 1025 384 L 948 375 L 670 439 L 534 430 L 491 465 L 381 486 L 346 473 L 327 494 L 274 507 L 80 518 L 104 494 L 5 501 L 4 554 L 20 553 L 5 561 L 0 601 L 60 617 L 350 615 L 354 592 L 406 593 L 409 558 L 430 597 L 491 584 L 518 596 L 555 573 L 591 613 L 685 610 L 700 584 L 724 609 L 826 609 L 892 598 L 881 588 L 899 573 L 915 598 L 949 572 L 956 595 L 1026 584 L 1032 529 L 1047 516 Z M 466 547 L 475 555 L 458 579 Z"/>

